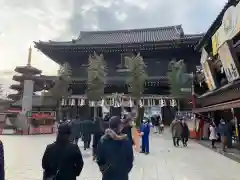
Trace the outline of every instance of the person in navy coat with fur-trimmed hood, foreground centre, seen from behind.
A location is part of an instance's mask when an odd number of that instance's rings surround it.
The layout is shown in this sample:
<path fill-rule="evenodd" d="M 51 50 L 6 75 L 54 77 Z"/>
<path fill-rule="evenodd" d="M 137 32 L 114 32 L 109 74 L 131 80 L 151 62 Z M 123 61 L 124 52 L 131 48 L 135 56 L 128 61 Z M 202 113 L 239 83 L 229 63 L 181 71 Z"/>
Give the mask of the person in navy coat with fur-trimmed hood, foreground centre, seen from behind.
<path fill-rule="evenodd" d="M 133 167 L 132 145 L 126 135 L 119 134 L 121 127 L 120 118 L 111 117 L 106 131 L 109 133 L 102 136 L 98 145 L 97 164 L 102 172 L 102 180 L 128 180 Z"/>

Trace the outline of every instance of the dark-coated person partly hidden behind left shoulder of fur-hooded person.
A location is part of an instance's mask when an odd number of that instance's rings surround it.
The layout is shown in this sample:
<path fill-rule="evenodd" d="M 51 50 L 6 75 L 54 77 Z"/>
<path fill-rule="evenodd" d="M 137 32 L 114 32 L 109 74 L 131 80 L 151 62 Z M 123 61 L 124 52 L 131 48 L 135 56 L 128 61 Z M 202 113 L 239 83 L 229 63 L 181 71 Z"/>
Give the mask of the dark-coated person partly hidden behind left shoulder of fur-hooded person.
<path fill-rule="evenodd" d="M 104 135 L 104 125 L 103 125 L 103 120 L 99 117 L 96 117 L 96 119 L 94 120 L 94 133 L 93 133 L 93 160 L 96 159 L 96 153 L 97 153 L 97 147 L 98 147 L 98 143 L 102 137 L 102 135 Z"/>

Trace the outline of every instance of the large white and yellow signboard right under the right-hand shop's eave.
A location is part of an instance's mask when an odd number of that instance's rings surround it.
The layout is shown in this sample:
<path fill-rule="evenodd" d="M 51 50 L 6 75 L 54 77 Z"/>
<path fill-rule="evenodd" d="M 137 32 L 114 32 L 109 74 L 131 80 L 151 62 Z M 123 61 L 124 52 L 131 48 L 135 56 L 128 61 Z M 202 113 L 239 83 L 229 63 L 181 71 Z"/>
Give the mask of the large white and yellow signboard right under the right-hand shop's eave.
<path fill-rule="evenodd" d="M 212 51 L 216 55 L 219 47 L 227 40 L 235 37 L 240 31 L 240 3 L 227 9 L 223 16 L 222 25 L 212 36 Z"/>

